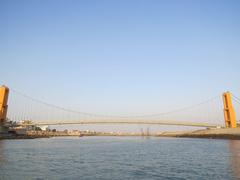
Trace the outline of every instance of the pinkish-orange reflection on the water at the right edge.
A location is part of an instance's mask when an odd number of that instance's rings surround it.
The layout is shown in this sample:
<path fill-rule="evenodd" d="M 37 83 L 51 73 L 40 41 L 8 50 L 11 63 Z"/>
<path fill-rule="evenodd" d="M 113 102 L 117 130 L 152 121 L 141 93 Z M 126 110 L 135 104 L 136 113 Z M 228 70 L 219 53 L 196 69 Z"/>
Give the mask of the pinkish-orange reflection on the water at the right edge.
<path fill-rule="evenodd" d="M 231 166 L 236 178 L 240 178 L 240 140 L 230 140 Z"/>

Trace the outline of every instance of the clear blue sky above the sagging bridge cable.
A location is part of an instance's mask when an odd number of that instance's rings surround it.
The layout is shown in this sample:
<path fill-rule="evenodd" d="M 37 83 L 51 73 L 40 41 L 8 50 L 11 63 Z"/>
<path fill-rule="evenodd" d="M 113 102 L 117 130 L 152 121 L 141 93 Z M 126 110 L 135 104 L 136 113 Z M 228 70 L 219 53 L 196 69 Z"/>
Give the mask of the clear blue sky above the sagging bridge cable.
<path fill-rule="evenodd" d="M 93 113 L 239 96 L 240 1 L 0 0 L 0 72 L 0 84 Z"/>

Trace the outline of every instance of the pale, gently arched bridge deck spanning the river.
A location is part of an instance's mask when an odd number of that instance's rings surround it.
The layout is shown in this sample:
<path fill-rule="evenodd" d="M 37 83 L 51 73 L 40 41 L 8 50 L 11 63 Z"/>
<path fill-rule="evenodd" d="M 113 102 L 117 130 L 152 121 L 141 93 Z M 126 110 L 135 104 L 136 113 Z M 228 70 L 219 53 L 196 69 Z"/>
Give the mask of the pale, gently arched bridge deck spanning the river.
<path fill-rule="evenodd" d="M 74 124 L 149 124 L 149 125 L 173 125 L 173 126 L 194 126 L 216 128 L 222 127 L 218 124 L 197 123 L 197 122 L 178 122 L 178 121 L 162 121 L 162 120 L 81 120 L 81 121 L 58 121 L 58 122 L 33 122 L 29 125 L 74 125 Z"/>

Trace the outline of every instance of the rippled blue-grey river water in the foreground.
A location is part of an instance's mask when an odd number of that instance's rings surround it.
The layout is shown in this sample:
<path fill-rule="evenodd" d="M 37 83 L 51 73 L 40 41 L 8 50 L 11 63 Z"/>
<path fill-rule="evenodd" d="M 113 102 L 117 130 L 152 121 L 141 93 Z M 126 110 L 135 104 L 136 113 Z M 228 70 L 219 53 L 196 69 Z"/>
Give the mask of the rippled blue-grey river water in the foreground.
<path fill-rule="evenodd" d="M 156 137 L 2 140 L 0 179 L 240 179 L 240 141 Z"/>

